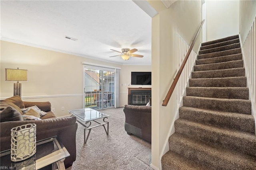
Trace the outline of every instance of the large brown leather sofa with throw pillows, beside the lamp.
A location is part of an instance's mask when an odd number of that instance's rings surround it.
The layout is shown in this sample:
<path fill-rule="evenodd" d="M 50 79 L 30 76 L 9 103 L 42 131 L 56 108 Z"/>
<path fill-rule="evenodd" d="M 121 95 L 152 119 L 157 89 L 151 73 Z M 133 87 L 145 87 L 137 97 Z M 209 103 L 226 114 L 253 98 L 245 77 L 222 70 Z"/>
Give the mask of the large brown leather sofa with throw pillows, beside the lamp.
<path fill-rule="evenodd" d="M 40 117 L 42 120 L 24 120 L 21 109 L 30 106 L 37 106 L 47 114 Z M 35 123 L 37 141 L 57 136 L 58 141 L 66 147 L 70 153 L 64 160 L 66 168 L 76 160 L 76 117 L 57 118 L 51 111 L 50 102 L 23 102 L 20 96 L 0 100 L 0 121 L 0 151 L 10 149 L 13 127 Z"/>

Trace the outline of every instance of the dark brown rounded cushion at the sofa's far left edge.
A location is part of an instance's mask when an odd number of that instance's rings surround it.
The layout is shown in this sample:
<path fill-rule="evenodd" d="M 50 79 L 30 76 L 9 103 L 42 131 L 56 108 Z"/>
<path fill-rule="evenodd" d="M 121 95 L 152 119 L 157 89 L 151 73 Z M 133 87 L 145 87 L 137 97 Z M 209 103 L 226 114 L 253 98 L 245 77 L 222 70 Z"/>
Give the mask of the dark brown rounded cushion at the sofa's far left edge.
<path fill-rule="evenodd" d="M 23 120 L 22 115 L 14 107 L 1 104 L 0 106 L 0 122 Z"/>

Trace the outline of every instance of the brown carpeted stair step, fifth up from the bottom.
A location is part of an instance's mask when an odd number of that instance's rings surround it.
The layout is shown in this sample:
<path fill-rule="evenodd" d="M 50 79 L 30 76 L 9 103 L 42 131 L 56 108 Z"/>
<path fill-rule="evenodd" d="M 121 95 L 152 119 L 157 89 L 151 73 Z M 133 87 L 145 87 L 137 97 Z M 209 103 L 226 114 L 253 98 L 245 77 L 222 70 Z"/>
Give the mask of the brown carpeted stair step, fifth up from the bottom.
<path fill-rule="evenodd" d="M 227 111 L 250 115 L 251 101 L 242 99 L 219 99 L 219 98 L 202 98 L 195 96 L 184 96 L 183 106 L 196 107 L 201 109 L 210 109 L 218 111 Z"/>

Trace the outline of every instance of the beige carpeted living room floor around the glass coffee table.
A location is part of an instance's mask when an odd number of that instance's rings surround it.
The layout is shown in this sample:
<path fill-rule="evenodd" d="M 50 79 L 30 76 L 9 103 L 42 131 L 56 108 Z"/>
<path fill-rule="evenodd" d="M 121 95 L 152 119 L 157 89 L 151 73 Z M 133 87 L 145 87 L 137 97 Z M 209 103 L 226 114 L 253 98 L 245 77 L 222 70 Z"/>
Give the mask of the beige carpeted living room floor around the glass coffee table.
<path fill-rule="evenodd" d="M 126 133 L 123 107 L 101 112 L 110 115 L 105 119 L 109 135 L 102 126 L 93 128 L 84 144 L 84 127 L 78 123 L 76 161 L 67 170 L 152 170 L 151 144 Z"/>

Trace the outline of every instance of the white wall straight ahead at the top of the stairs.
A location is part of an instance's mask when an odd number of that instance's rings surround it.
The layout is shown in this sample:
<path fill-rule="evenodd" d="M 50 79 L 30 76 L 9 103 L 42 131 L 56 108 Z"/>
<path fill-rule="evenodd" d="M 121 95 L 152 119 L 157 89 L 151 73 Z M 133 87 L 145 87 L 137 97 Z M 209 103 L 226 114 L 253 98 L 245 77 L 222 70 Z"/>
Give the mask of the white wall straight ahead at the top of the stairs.
<path fill-rule="evenodd" d="M 239 33 L 238 0 L 206 0 L 206 41 Z"/>

